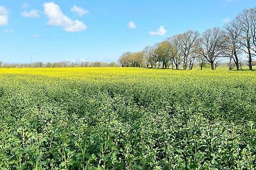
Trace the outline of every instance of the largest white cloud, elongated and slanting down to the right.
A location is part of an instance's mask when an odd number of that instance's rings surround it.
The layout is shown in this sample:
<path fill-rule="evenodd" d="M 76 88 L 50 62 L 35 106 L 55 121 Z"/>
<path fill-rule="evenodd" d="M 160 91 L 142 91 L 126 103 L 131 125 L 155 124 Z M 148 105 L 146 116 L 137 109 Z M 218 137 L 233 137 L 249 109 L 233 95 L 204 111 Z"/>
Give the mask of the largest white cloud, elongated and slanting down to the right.
<path fill-rule="evenodd" d="M 64 31 L 67 32 L 79 32 L 86 29 L 86 25 L 79 20 L 71 20 L 64 15 L 58 4 L 45 3 L 44 4 L 45 15 L 49 18 L 47 25 L 54 25 L 63 27 Z"/>

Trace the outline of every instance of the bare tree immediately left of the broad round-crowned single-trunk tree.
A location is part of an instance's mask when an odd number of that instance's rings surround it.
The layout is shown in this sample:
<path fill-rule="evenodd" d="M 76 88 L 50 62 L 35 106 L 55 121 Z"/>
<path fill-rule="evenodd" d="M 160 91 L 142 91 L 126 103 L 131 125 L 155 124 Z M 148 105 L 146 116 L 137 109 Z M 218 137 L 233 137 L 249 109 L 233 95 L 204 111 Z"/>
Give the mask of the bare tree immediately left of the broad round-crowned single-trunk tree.
<path fill-rule="evenodd" d="M 187 69 L 189 62 L 189 69 L 192 69 L 195 61 L 195 50 L 198 44 L 200 34 L 198 31 L 187 31 L 180 36 L 180 50 L 183 58 L 183 69 Z M 191 67 L 192 66 L 192 67 Z"/>

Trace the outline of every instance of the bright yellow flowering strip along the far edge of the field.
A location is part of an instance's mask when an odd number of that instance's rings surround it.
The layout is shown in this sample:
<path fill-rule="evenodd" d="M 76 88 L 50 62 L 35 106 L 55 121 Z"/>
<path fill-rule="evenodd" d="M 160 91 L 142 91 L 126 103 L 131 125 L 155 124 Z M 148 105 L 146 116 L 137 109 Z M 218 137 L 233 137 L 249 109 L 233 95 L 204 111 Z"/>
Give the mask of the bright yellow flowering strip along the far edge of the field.
<path fill-rule="evenodd" d="M 220 68 L 216 71 L 209 69 L 192 71 L 177 71 L 171 69 L 145 69 L 145 68 L 122 68 L 122 67 L 74 67 L 74 68 L 6 68 L 0 69 L 0 76 L 8 74 L 16 75 L 17 78 L 29 76 L 49 76 L 53 78 L 65 78 L 71 80 L 109 81 L 109 82 L 133 82 L 133 81 L 168 81 L 170 78 L 237 78 L 255 77 L 253 71 L 229 71 Z"/>

